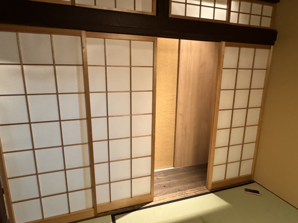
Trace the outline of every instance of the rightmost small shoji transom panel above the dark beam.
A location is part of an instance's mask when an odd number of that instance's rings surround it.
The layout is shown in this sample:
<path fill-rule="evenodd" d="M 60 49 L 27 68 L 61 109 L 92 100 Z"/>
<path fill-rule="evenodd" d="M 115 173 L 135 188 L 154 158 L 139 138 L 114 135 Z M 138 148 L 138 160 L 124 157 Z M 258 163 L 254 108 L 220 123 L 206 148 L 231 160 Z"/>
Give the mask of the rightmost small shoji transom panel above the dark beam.
<path fill-rule="evenodd" d="M 230 23 L 248 26 L 271 27 L 274 4 L 261 1 L 232 0 Z"/>

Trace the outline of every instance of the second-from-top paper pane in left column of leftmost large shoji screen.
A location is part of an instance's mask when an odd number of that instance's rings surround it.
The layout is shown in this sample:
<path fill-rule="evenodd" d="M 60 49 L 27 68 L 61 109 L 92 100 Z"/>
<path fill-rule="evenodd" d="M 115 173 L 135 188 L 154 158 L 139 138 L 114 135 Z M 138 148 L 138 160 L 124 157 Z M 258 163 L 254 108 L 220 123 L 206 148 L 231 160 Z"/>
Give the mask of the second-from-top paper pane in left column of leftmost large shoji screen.
<path fill-rule="evenodd" d="M 0 32 L 1 41 L 1 32 Z M 0 43 L 1 44 L 1 43 Z M 2 51 L 2 48 L 0 46 Z M 1 53 L 0 53 L 1 54 Z M 1 55 L 0 55 L 1 60 Z M 24 94 L 24 83 L 20 65 L 0 65 L 0 95 Z"/>

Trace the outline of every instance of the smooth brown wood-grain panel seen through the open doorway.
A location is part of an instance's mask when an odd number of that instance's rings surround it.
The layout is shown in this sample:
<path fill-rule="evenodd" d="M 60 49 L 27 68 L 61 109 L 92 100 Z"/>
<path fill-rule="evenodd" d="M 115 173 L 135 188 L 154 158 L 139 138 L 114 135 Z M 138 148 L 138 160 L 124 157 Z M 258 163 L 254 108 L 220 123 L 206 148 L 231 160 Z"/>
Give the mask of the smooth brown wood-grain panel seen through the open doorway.
<path fill-rule="evenodd" d="M 219 45 L 180 42 L 174 167 L 208 162 Z"/>

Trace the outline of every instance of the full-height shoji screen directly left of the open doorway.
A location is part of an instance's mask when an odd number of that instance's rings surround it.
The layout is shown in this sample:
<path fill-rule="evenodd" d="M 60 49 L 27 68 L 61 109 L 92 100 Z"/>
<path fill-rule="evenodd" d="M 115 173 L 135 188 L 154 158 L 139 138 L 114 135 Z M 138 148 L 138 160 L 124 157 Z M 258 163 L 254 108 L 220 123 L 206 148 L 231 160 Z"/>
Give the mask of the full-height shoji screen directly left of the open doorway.
<path fill-rule="evenodd" d="M 97 210 L 153 200 L 154 37 L 87 32 Z"/>

